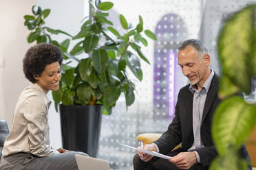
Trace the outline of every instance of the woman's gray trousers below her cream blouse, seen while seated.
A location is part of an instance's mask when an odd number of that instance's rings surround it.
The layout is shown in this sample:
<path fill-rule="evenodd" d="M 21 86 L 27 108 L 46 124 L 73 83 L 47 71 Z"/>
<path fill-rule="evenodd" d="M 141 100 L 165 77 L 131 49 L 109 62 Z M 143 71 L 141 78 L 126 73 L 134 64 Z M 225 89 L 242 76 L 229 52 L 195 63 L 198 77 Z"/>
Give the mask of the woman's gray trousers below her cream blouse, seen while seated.
<path fill-rule="evenodd" d="M 67 151 L 53 156 L 37 157 L 32 154 L 19 153 L 2 157 L 1 170 L 78 170 L 75 154 L 88 156 L 79 151 Z"/>

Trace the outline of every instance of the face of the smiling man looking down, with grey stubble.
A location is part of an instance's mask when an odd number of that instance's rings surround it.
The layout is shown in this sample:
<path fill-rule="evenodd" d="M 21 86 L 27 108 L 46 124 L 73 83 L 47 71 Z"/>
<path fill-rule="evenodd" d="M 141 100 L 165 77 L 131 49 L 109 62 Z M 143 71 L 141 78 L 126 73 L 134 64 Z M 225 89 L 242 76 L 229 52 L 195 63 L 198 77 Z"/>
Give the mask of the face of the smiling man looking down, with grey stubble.
<path fill-rule="evenodd" d="M 208 54 L 203 56 L 202 53 L 199 53 L 190 45 L 178 52 L 178 64 L 183 75 L 189 79 L 192 85 L 203 86 L 208 77 L 206 77 L 206 73 L 209 71 L 210 56 Z"/>

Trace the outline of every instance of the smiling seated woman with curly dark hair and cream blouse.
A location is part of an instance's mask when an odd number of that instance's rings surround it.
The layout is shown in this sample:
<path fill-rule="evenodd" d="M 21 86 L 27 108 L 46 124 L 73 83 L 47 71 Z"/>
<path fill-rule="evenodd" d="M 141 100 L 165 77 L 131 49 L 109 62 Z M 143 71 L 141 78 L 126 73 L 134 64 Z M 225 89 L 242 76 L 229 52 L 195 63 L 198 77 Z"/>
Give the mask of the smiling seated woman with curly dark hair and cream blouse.
<path fill-rule="evenodd" d="M 75 154 L 50 145 L 47 99 L 49 90 L 58 90 L 61 80 L 61 50 L 41 43 L 28 49 L 23 72 L 32 84 L 21 93 L 10 134 L 3 146 L 0 169 L 77 170 Z"/>

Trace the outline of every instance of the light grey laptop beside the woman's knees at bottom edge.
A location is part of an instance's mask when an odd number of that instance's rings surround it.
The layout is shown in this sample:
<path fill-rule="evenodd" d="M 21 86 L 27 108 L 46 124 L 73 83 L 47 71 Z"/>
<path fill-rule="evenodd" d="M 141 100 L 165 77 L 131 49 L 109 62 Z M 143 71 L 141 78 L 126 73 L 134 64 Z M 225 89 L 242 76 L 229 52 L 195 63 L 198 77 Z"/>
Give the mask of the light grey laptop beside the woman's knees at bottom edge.
<path fill-rule="evenodd" d="M 109 162 L 98 158 L 90 158 L 81 155 L 76 156 L 76 163 L 79 170 L 110 170 Z"/>

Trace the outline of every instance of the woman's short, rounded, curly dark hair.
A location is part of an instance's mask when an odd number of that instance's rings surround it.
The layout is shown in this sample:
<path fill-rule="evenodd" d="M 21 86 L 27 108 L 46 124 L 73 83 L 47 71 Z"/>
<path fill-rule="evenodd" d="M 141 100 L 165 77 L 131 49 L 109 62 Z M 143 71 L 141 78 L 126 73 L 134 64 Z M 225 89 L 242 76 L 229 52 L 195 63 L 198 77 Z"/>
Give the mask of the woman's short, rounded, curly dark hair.
<path fill-rule="evenodd" d="M 23 58 L 23 72 L 30 82 L 35 83 L 33 75 L 41 75 L 45 66 L 63 60 L 61 49 L 52 44 L 41 43 L 28 49 Z"/>

